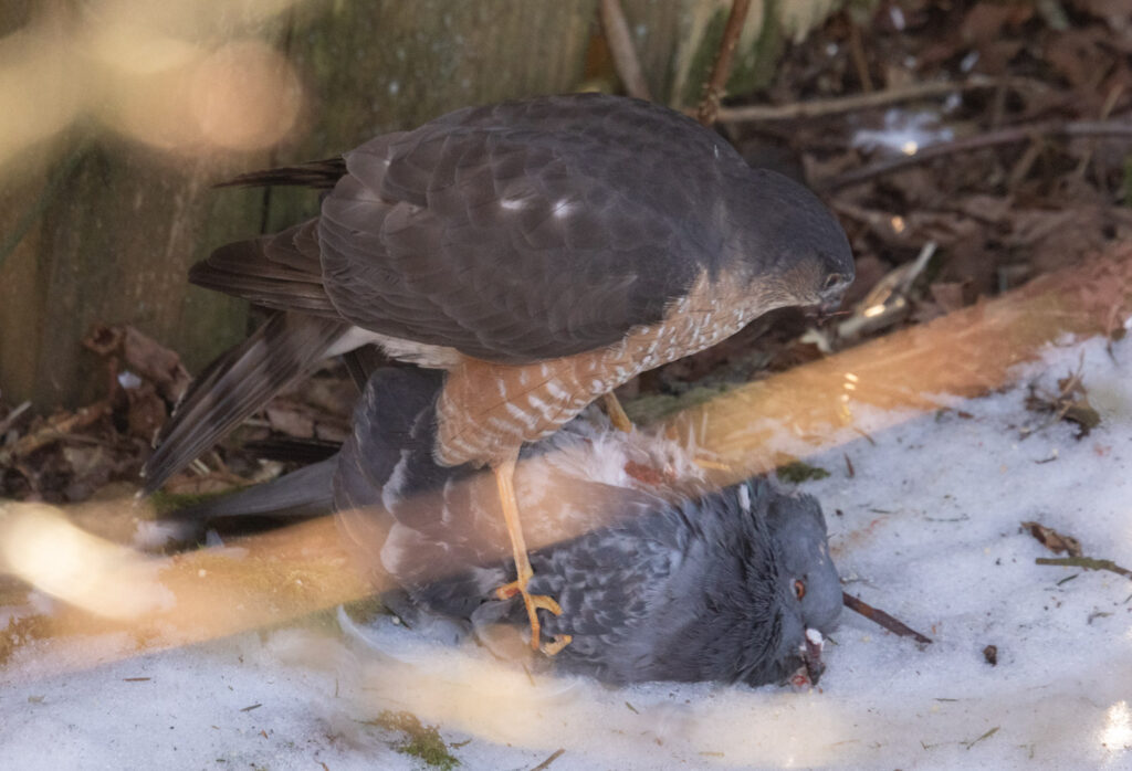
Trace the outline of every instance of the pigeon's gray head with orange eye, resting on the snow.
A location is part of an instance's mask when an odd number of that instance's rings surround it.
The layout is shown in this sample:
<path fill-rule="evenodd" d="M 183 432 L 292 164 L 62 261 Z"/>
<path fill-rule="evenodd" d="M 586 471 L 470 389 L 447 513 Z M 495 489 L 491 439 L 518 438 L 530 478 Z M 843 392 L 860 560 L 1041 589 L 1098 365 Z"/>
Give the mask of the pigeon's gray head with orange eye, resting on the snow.
<path fill-rule="evenodd" d="M 775 562 L 771 580 L 779 634 L 772 641 L 773 665 L 780 679 L 816 684 L 824 670 L 824 634 L 841 614 L 841 581 L 821 506 L 809 495 L 773 493 L 765 482 L 746 484 L 755 511 L 765 511 Z"/>

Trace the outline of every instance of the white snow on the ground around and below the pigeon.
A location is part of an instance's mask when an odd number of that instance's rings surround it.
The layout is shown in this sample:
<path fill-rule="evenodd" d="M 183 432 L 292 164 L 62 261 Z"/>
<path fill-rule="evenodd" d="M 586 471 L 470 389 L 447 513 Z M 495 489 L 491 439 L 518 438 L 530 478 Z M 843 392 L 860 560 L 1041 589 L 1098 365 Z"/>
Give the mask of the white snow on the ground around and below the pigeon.
<path fill-rule="evenodd" d="M 25 651 L 0 673 L 0 768 L 422 768 L 367 725 L 383 710 L 439 725 L 469 769 L 532 769 L 559 748 L 554 771 L 1132 768 L 1132 581 L 1037 565 L 1053 555 L 1019 528 L 1132 565 L 1132 345 L 1113 354 L 1052 349 L 1007 392 L 809 459 L 831 473 L 804 487 L 847 590 L 935 640 L 847 612 L 820 691 L 535 681 L 393 624 L 369 633 L 377 648 L 284 629 L 65 675 Z M 1055 390 L 1082 356 L 1101 425 L 1021 439 L 1044 422 L 1024 383 Z"/>

